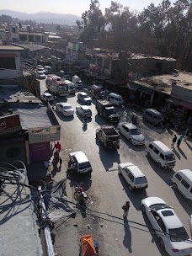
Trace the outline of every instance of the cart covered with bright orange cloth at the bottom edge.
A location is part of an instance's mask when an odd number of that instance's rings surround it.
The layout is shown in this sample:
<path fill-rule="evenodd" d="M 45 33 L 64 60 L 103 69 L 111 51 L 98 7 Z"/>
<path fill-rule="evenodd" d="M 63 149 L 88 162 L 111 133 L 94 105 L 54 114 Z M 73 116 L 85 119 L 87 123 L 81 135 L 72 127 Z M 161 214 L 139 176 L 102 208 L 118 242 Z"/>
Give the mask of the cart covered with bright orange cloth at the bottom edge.
<path fill-rule="evenodd" d="M 80 238 L 80 256 L 99 256 L 99 243 L 91 235 Z"/>

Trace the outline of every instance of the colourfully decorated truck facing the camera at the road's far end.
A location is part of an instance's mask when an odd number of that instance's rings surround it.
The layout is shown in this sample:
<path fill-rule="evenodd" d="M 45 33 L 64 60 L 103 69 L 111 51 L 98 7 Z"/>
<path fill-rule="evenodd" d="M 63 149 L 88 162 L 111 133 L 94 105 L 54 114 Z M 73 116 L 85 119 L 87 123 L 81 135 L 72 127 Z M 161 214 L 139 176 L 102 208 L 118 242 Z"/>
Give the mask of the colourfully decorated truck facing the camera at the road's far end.
<path fill-rule="evenodd" d="M 50 74 L 46 79 L 46 88 L 56 96 L 67 96 L 69 94 L 68 84 L 61 77 Z"/>

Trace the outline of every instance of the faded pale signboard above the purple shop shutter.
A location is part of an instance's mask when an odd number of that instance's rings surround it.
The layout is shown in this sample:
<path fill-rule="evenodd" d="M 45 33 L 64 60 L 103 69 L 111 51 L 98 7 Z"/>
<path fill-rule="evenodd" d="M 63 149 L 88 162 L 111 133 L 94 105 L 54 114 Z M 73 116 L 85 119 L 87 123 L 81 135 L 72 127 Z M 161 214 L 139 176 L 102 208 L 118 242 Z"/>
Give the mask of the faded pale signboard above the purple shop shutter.
<path fill-rule="evenodd" d="M 53 125 L 51 127 L 29 128 L 29 144 L 59 141 L 60 131 L 60 125 Z"/>

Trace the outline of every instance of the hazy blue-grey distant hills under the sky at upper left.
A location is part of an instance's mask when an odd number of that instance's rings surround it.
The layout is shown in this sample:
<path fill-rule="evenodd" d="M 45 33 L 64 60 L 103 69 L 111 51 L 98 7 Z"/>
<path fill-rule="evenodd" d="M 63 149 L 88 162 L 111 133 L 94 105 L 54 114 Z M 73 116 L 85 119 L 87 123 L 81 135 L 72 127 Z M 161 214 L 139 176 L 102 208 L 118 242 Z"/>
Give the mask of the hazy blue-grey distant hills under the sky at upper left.
<path fill-rule="evenodd" d="M 66 24 L 66 25 L 76 25 L 76 20 L 81 19 L 81 17 L 72 14 L 63 13 L 22 13 L 11 10 L 0 10 L 0 15 L 5 14 L 13 18 L 18 18 L 21 20 L 35 20 L 36 22 L 43 23 L 54 23 L 54 24 Z"/>

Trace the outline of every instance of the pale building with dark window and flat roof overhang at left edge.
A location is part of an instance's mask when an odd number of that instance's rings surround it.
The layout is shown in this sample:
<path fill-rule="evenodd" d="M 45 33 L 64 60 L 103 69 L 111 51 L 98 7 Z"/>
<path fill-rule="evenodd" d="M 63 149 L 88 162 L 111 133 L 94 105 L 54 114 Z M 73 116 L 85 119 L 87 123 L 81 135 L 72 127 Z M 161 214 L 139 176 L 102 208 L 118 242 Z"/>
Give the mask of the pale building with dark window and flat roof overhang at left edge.
<path fill-rule="evenodd" d="M 0 78 L 19 77 L 21 70 L 21 51 L 24 48 L 13 45 L 0 45 Z"/>

